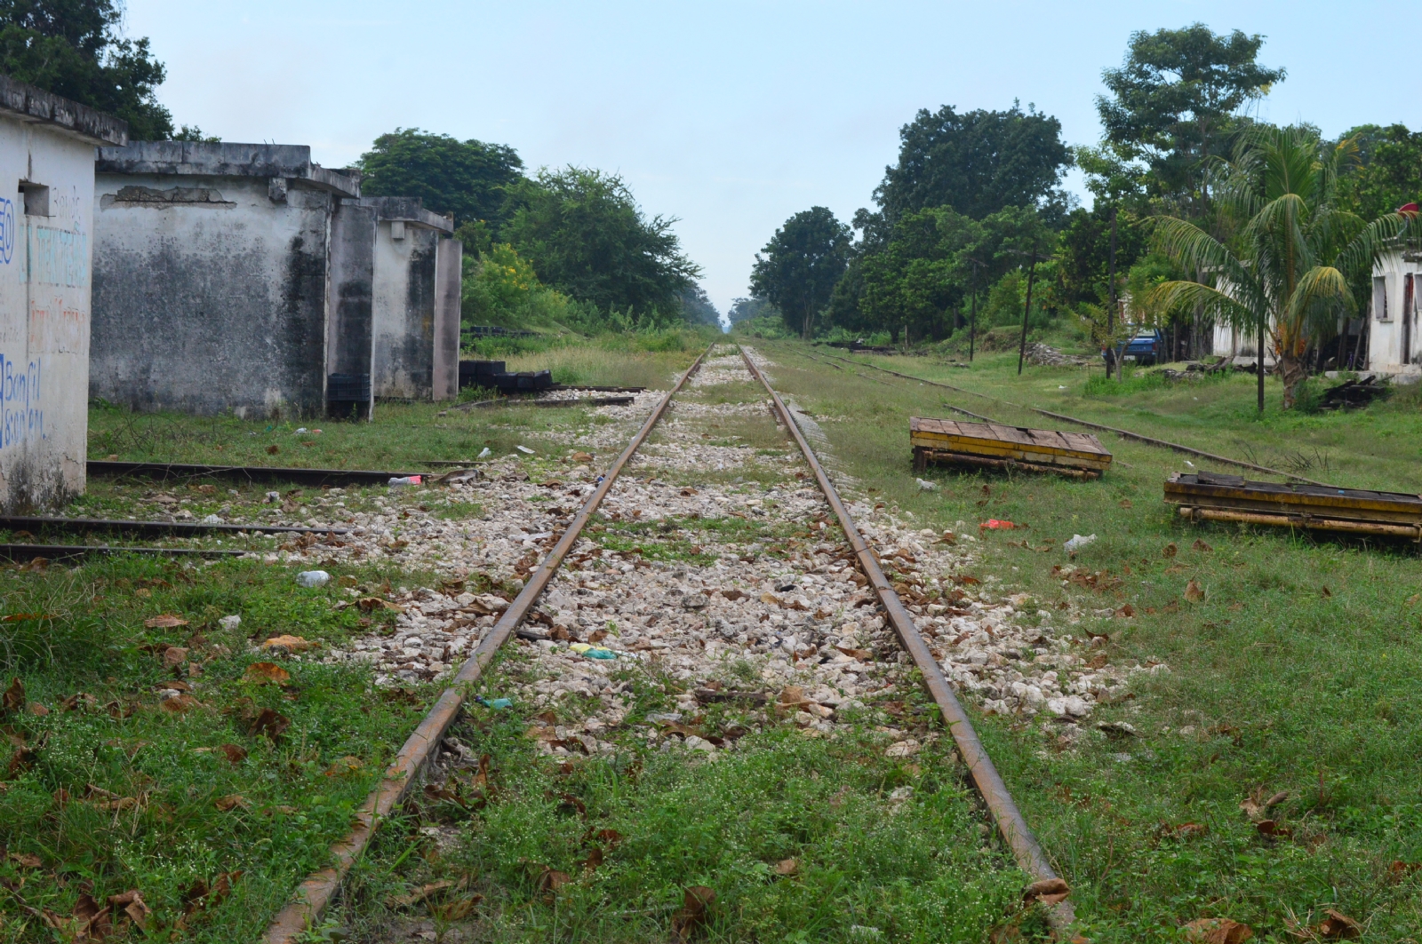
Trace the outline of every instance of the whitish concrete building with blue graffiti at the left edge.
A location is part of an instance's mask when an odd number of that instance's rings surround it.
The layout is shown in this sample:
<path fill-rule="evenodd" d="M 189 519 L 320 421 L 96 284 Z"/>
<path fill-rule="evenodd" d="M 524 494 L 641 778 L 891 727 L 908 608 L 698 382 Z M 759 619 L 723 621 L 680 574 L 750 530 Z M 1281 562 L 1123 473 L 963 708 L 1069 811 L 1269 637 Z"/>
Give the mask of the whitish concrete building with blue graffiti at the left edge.
<path fill-rule="evenodd" d="M 128 125 L 0 75 L 0 509 L 84 490 L 94 148 Z"/>

